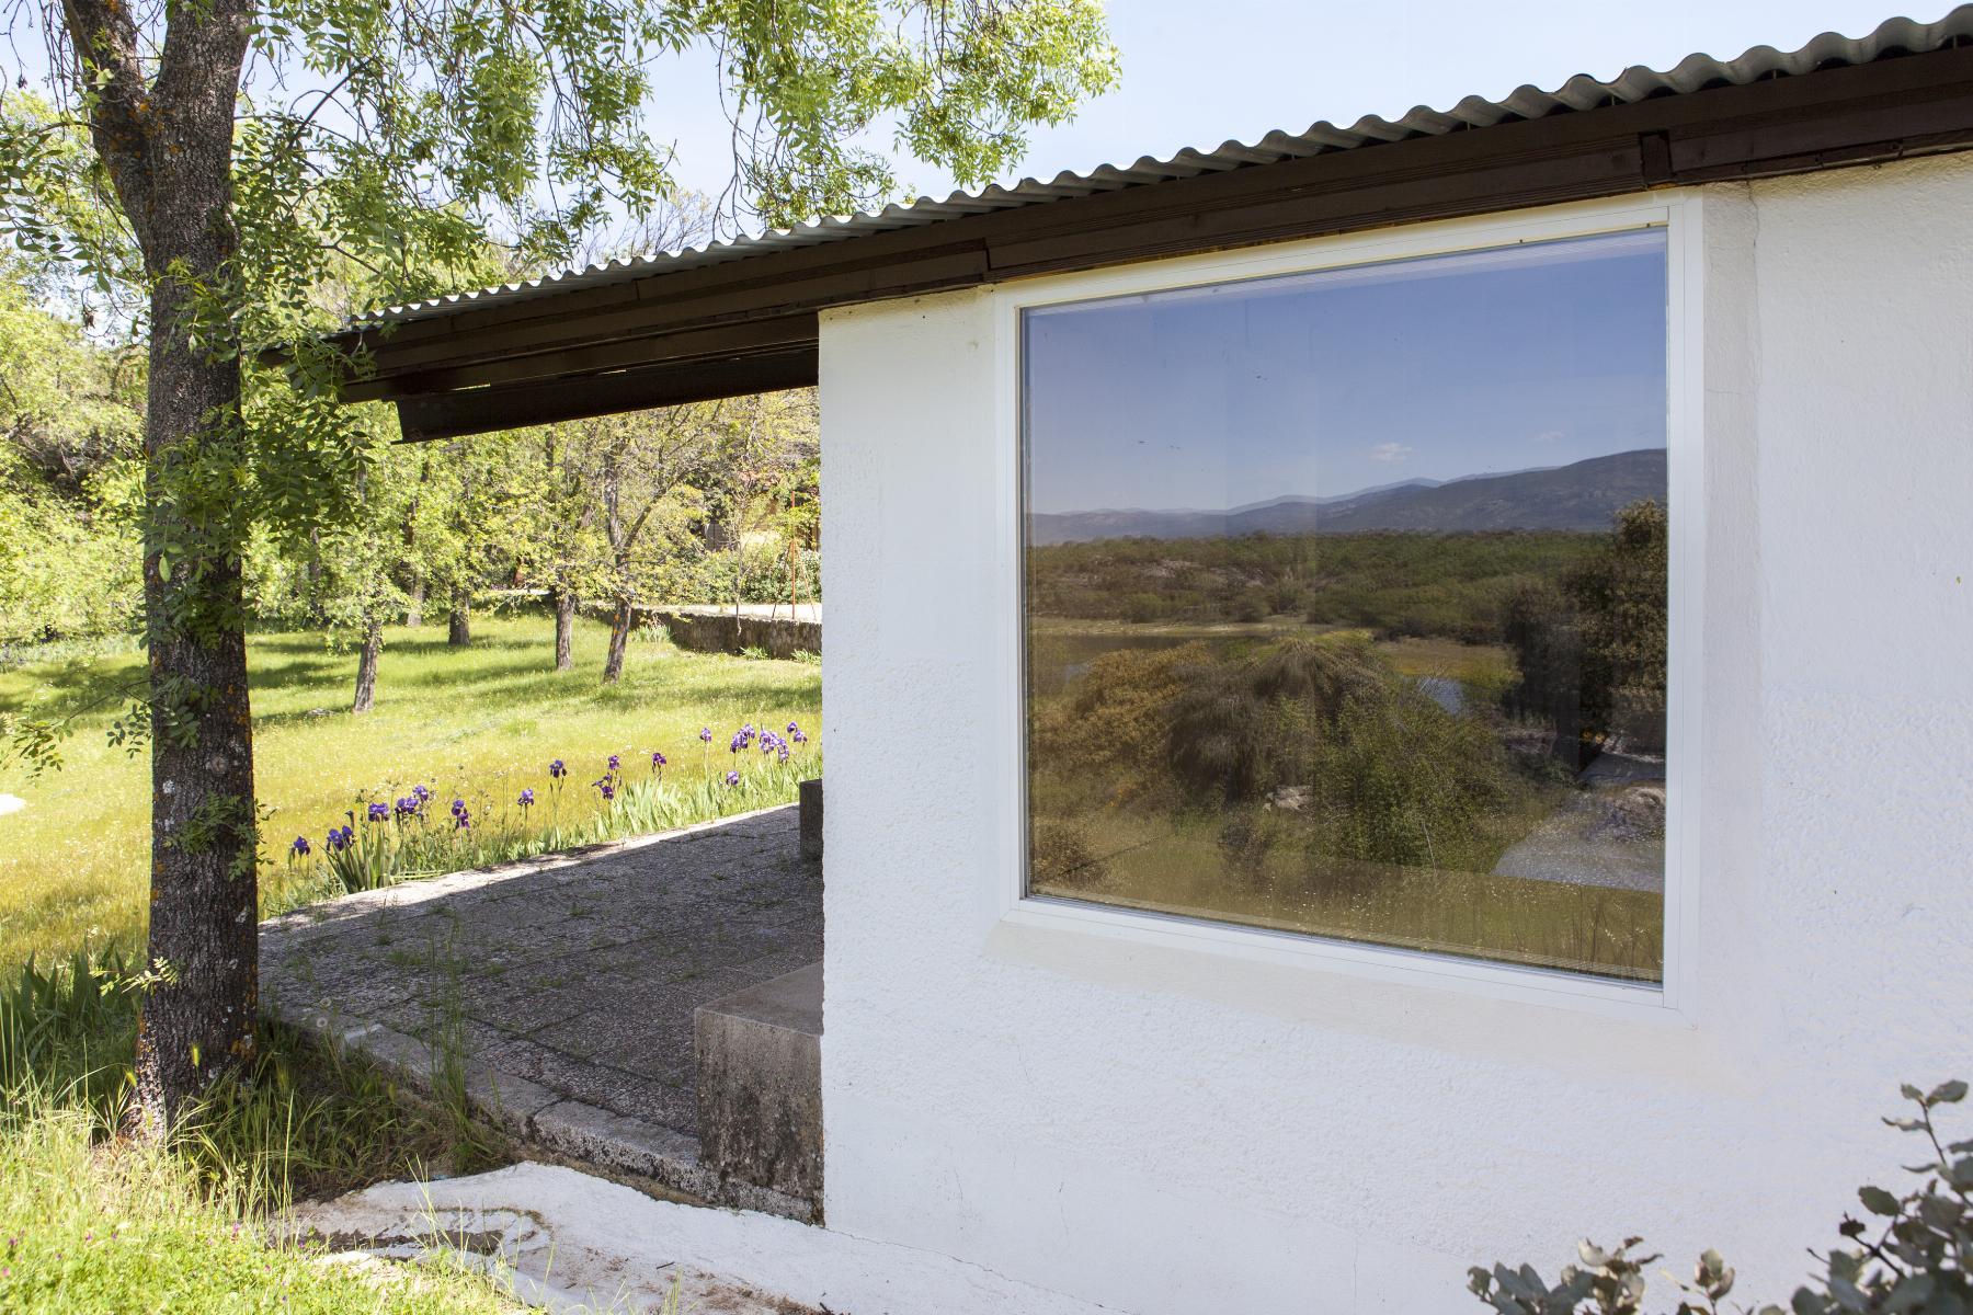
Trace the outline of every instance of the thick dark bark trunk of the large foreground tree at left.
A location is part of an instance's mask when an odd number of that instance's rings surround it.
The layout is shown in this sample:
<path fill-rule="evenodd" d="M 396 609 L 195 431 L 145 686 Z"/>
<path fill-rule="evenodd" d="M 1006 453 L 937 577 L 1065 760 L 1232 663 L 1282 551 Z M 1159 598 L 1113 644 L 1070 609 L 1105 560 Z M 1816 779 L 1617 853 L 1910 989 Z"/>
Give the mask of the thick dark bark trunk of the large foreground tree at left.
<path fill-rule="evenodd" d="M 180 473 L 245 465 L 241 367 L 225 333 L 235 278 L 233 110 L 247 0 L 178 6 L 146 83 L 128 6 L 65 0 L 95 89 L 89 134 L 150 278 L 144 416 L 144 641 L 150 676 L 150 942 L 158 974 L 136 1041 L 136 1110 L 164 1136 L 255 1053 L 258 901 L 253 722 L 237 507 L 185 497 Z M 199 288 L 215 298 L 197 306 Z M 193 341 L 193 327 L 205 337 Z M 221 325 L 221 327 L 215 327 Z M 225 351 L 235 347 L 235 351 Z M 193 485 L 195 487 L 195 485 Z"/>

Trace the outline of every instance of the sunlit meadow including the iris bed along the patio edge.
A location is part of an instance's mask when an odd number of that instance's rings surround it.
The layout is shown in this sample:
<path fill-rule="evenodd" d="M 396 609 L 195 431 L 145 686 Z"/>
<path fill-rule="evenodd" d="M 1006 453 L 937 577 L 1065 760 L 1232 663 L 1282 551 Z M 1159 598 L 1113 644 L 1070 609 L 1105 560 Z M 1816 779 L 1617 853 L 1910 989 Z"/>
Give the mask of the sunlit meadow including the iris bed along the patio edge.
<path fill-rule="evenodd" d="M 357 860 L 389 867 L 385 875 L 474 865 L 787 802 L 797 779 L 819 775 L 819 664 L 647 639 L 610 688 L 602 655 L 604 627 L 590 621 L 576 629 L 576 670 L 560 674 L 547 617 L 475 617 L 466 649 L 448 647 L 444 627 L 393 629 L 377 708 L 355 718 L 351 653 L 314 633 L 251 637 L 264 909 L 363 883 Z M 0 708 L 49 688 L 57 706 L 97 704 L 59 773 L 0 775 L 0 791 L 28 802 L 0 818 L 0 964 L 138 944 L 150 765 L 109 745 L 105 731 L 114 692 L 140 674 L 134 651 L 0 670 Z M 756 729 L 734 751 L 742 726 Z M 787 741 L 785 759 L 777 741 Z M 653 753 L 665 755 L 661 769 Z M 560 779 L 548 773 L 556 759 Z M 610 798 L 598 785 L 606 777 Z M 412 787 L 430 795 L 418 818 L 399 812 Z M 521 804 L 523 791 L 533 804 Z M 371 822 L 371 802 L 389 816 Z M 349 850 L 328 840 L 341 826 L 353 830 Z M 379 856 L 385 836 L 389 854 Z M 308 840 L 306 856 L 294 856 L 296 838 Z"/>

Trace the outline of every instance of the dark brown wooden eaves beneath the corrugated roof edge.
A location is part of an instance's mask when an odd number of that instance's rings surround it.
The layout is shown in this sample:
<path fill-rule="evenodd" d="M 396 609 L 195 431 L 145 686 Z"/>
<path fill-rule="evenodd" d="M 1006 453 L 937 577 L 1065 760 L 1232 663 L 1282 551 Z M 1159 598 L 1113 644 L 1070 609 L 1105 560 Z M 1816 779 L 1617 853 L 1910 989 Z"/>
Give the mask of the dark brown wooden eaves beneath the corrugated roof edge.
<path fill-rule="evenodd" d="M 1973 34 L 1969 10 L 1953 20 Z M 689 252 L 702 258 L 606 266 L 412 308 L 341 335 L 375 365 L 343 396 L 397 402 L 404 436 L 416 440 L 791 388 L 815 382 L 819 311 L 837 306 L 1969 146 L 1973 45 L 1955 32 L 1930 49 L 1888 49 L 1864 63 L 1630 103 L 1612 93 L 1608 104 L 1539 118 L 1359 140 L 1140 185 L 1079 189 L 1058 179 L 1060 197 L 1024 183 L 1044 195 L 977 211 L 955 197 L 917 223 L 915 207 L 886 211 L 888 227 L 837 221 L 848 231 L 833 241 L 750 241 L 720 248 L 720 258 Z"/>

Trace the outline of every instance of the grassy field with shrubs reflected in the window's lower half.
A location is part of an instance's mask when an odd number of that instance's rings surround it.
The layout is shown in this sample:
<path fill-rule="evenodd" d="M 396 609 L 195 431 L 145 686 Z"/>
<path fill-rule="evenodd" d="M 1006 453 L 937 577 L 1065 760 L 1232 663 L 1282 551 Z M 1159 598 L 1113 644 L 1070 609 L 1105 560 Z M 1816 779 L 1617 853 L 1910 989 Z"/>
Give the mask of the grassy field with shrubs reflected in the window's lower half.
<path fill-rule="evenodd" d="M 1034 893 L 1661 972 L 1661 795 L 1507 718 L 1503 645 L 1036 617 L 1028 676 Z"/>

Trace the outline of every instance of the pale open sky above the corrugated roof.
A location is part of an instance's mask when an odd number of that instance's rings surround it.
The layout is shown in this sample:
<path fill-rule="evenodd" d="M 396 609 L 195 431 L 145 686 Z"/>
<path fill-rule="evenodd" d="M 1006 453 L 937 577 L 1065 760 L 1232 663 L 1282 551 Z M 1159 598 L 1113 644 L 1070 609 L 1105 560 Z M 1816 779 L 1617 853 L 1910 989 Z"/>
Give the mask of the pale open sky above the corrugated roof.
<path fill-rule="evenodd" d="M 1574 73 L 1669 67 L 1693 51 L 1726 59 L 1760 43 L 1793 49 L 1821 32 L 1861 35 L 1898 12 L 1934 20 L 1949 8 L 1949 0 L 1920 10 L 1892 0 L 1109 0 L 1123 85 L 1075 122 L 1034 132 L 1016 177 L 1253 140 L 1318 118 L 1395 118 L 1466 95 L 1499 99 L 1523 83 L 1557 87 Z M 679 175 L 700 189 L 726 179 L 728 132 L 710 87 L 706 57 L 681 57 L 653 112 L 653 128 L 679 148 Z M 888 136 L 876 134 L 872 146 L 886 148 Z M 953 185 L 912 162 L 902 162 L 900 177 L 917 193 Z"/>

